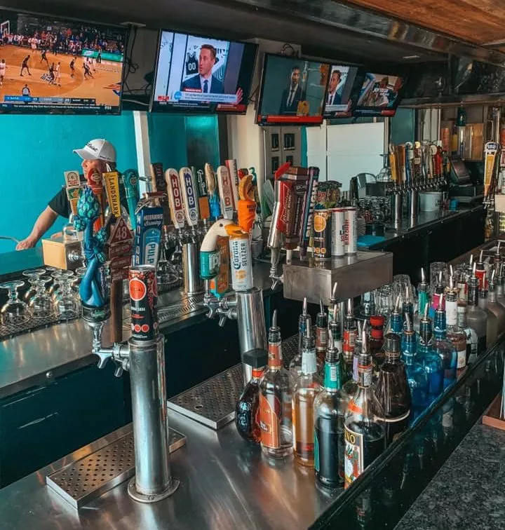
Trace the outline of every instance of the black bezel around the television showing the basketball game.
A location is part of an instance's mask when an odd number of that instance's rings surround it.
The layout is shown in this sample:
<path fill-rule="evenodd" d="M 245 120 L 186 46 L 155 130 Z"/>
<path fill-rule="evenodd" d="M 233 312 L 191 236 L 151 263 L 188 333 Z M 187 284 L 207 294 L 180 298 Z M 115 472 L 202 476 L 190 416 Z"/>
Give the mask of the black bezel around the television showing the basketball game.
<path fill-rule="evenodd" d="M 35 13 L 34 11 L 25 11 L 23 9 L 13 9 L 13 8 L 0 8 L 0 11 L 8 11 L 10 13 L 15 13 L 15 15 L 28 15 L 33 16 L 36 18 L 50 18 L 52 20 L 61 20 L 62 22 L 81 22 L 84 24 L 90 24 L 93 26 L 98 27 L 110 27 L 110 28 L 116 28 L 121 29 L 123 32 L 125 32 L 125 46 L 123 50 L 123 60 L 121 61 L 122 67 L 121 67 L 121 94 L 119 95 L 119 105 L 117 106 L 117 110 L 104 110 L 104 111 L 86 111 L 86 110 L 79 110 L 76 111 L 72 108 L 65 108 L 65 109 L 53 109 L 53 110 L 42 110 L 37 107 L 26 107 L 26 109 L 13 109 L 4 111 L 4 109 L 1 108 L 1 104 L 5 104 L 5 102 L 0 102 L 0 116 L 121 116 L 121 113 L 123 111 L 123 95 L 124 95 L 124 79 L 126 74 L 126 52 L 128 50 L 128 45 L 130 41 L 131 36 L 131 30 L 130 27 L 127 27 L 125 25 L 117 25 L 117 24 L 105 24 L 102 22 L 94 22 L 91 20 L 83 20 L 81 18 L 73 18 L 73 17 L 61 17 L 60 15 L 48 15 L 46 13 Z"/>

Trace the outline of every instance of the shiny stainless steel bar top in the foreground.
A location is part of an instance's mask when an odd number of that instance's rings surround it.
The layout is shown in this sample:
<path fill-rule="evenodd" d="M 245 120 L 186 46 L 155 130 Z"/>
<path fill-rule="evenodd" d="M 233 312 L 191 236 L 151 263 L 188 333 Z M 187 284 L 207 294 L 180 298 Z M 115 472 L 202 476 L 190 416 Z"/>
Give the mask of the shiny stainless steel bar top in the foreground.
<path fill-rule="evenodd" d="M 169 411 L 170 427 L 187 436 L 172 454 L 179 489 L 154 504 L 132 501 L 127 482 L 77 511 L 46 487 L 45 477 L 96 451 L 121 428 L 72 455 L 0 490 L 3 530 L 296 530 L 306 529 L 335 501 L 315 485 L 314 470 L 292 457 L 271 460 L 238 435 L 234 423 L 219 431 Z"/>

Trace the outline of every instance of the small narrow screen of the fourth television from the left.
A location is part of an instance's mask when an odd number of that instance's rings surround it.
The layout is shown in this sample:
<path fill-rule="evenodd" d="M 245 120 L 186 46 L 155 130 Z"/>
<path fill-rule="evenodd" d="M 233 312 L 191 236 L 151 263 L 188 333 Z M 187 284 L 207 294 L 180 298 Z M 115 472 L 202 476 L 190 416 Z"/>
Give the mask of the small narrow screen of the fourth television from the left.
<path fill-rule="evenodd" d="M 324 118 L 350 118 L 352 116 L 363 83 L 363 74 L 359 76 L 358 70 L 358 67 L 343 64 L 331 65 L 323 110 Z"/>

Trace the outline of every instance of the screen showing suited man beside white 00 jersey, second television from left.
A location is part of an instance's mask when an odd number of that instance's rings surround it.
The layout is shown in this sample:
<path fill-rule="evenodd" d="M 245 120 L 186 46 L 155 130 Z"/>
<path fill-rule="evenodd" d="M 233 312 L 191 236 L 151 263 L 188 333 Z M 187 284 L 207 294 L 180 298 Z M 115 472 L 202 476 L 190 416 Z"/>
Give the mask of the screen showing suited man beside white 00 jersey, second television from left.
<path fill-rule="evenodd" d="M 257 45 L 161 31 L 153 111 L 245 114 Z"/>

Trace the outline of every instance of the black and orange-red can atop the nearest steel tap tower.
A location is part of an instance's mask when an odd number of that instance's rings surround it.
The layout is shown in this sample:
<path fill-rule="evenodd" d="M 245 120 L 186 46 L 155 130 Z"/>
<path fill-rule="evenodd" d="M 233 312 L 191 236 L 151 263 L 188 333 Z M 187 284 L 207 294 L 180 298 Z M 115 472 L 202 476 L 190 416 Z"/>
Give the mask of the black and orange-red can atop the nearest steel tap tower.
<path fill-rule="evenodd" d="M 131 337 L 135 341 L 152 341 L 158 337 L 158 289 L 156 267 L 137 265 L 130 267 Z"/>

